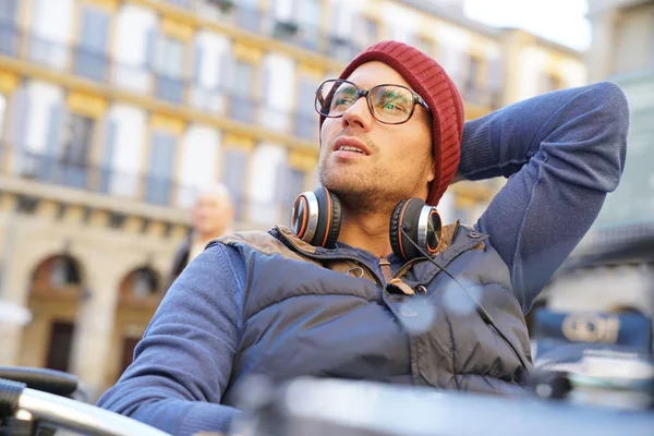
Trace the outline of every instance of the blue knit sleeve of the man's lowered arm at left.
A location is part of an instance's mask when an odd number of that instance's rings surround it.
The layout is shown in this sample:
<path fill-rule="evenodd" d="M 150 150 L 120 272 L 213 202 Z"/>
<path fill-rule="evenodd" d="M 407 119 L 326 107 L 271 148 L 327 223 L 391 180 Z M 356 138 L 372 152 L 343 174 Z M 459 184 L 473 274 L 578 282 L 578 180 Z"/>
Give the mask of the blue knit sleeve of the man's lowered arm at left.
<path fill-rule="evenodd" d="M 215 244 L 184 269 L 99 407 L 173 435 L 229 428 L 239 412 L 220 399 L 240 339 L 239 262 L 234 249 Z"/>

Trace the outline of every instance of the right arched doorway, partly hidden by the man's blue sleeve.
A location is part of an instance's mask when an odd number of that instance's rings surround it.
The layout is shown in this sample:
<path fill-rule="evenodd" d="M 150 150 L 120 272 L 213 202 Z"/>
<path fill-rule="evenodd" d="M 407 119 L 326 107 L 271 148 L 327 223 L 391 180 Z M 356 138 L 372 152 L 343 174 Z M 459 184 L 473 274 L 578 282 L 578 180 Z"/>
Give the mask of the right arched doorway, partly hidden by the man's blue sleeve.
<path fill-rule="evenodd" d="M 134 348 L 164 296 L 162 280 L 152 267 L 141 266 L 124 276 L 119 292 L 111 348 L 116 350 L 112 356 L 114 364 L 109 385 L 118 380 L 132 363 Z"/>

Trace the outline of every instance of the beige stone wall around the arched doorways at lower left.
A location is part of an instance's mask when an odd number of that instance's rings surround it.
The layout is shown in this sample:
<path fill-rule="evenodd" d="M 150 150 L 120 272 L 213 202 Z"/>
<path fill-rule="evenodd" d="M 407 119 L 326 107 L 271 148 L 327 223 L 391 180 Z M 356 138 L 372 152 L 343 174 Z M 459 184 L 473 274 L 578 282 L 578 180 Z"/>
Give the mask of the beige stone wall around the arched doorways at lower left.
<path fill-rule="evenodd" d="M 142 332 L 158 302 L 157 299 L 154 304 L 122 307 L 121 281 L 148 261 L 156 274 L 165 278 L 181 239 L 83 225 L 73 217 L 12 217 L 0 210 L 0 234 L 7 240 L 9 232 L 15 243 L 11 252 L 2 245 L 4 255 L 11 258 L 10 270 L 3 277 L 2 300 L 29 307 L 34 319 L 24 329 L 0 327 L 0 365 L 45 365 L 51 322 L 75 322 L 71 372 L 84 382 L 92 397 L 99 395 L 118 376 L 122 351 L 118 335 L 125 330 Z M 62 254 L 65 241 L 68 252 L 80 264 L 87 294 L 31 295 L 34 271 L 46 258 Z"/>

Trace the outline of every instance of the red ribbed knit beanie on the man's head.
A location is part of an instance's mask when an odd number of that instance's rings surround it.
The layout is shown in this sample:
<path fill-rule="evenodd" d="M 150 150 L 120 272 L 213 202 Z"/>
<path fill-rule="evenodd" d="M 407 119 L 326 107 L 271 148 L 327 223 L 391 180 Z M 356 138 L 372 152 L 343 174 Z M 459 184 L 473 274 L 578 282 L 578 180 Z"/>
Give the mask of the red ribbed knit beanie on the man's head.
<path fill-rule="evenodd" d="M 360 65 L 380 61 L 396 70 L 432 109 L 432 143 L 435 178 L 427 204 L 437 205 L 457 173 L 463 135 L 463 102 L 457 86 L 431 57 L 399 41 L 377 43 L 361 53 L 343 70 L 347 78 Z M 320 126 L 325 117 L 320 117 Z"/>

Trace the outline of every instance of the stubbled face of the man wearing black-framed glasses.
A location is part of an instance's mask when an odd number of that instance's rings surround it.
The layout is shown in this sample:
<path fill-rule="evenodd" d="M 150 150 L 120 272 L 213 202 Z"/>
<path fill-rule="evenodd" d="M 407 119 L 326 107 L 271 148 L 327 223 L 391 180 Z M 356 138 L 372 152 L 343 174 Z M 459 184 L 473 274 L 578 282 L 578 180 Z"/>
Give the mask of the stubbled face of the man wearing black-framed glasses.
<path fill-rule="evenodd" d="M 362 89 L 379 84 L 410 87 L 402 76 L 382 62 L 368 62 L 347 77 Z M 402 198 L 426 198 L 434 180 L 434 158 L 428 112 L 416 105 L 403 124 L 384 124 L 371 113 L 364 97 L 341 118 L 327 118 L 320 129 L 320 183 L 350 207 L 395 205 Z M 353 146 L 364 153 L 348 152 Z"/>

